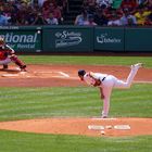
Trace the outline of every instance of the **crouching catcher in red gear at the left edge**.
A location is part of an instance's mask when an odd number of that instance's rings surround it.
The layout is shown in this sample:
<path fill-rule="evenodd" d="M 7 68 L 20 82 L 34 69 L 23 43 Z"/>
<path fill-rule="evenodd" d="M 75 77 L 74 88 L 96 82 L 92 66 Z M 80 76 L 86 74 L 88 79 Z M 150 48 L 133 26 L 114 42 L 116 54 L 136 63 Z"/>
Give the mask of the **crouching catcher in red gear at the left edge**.
<path fill-rule="evenodd" d="M 3 71 L 8 69 L 9 63 L 15 63 L 21 72 L 26 72 L 26 65 L 15 55 L 15 51 L 4 42 L 0 37 L 0 65 L 3 65 Z"/>

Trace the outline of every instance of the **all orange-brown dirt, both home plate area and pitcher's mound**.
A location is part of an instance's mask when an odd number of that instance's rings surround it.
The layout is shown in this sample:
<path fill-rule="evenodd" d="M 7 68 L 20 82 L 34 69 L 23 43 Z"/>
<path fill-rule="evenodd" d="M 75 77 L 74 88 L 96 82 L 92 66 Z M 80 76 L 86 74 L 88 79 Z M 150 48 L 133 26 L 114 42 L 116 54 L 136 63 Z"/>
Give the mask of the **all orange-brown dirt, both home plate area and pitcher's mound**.
<path fill-rule="evenodd" d="M 79 81 L 78 69 L 101 72 L 126 79 L 130 67 L 88 65 L 28 65 L 28 72 L 18 72 L 14 66 L 0 71 L 1 87 L 74 87 Z M 140 68 L 135 83 L 152 83 L 152 69 Z M 118 129 L 117 125 L 129 128 Z M 92 128 L 91 128 L 91 127 Z M 0 129 L 63 135 L 86 136 L 138 136 L 152 135 L 152 118 L 43 118 L 16 122 L 1 122 Z"/>

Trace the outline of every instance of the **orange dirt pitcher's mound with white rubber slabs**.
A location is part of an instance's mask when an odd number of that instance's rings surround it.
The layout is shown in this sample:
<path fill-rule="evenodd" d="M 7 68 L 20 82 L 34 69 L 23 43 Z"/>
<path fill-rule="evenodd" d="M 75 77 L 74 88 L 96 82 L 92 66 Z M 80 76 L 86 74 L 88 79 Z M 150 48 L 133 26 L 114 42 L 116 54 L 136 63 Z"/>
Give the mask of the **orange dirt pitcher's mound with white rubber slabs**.
<path fill-rule="evenodd" d="M 152 135 L 152 118 L 43 118 L 0 123 L 0 129 L 85 136 Z"/>

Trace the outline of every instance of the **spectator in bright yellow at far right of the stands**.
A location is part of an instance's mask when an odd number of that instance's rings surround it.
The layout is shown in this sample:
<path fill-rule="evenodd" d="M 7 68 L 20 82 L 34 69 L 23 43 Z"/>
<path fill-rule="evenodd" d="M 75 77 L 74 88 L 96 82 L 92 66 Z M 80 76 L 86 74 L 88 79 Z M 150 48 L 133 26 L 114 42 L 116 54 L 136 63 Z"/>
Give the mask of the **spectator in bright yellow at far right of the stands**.
<path fill-rule="evenodd" d="M 147 10 L 143 5 L 139 5 L 138 12 L 135 14 L 138 25 L 144 25 L 145 18 L 150 15 L 151 11 Z"/>

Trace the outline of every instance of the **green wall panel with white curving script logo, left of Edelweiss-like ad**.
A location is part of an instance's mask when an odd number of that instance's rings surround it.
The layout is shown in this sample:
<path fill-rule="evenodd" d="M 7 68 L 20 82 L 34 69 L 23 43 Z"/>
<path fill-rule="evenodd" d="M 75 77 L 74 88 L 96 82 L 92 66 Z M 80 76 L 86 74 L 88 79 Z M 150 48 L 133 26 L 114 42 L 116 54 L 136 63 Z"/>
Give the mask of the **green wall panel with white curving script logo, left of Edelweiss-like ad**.
<path fill-rule="evenodd" d="M 43 50 L 47 52 L 93 51 L 93 28 L 83 26 L 43 27 Z"/>

